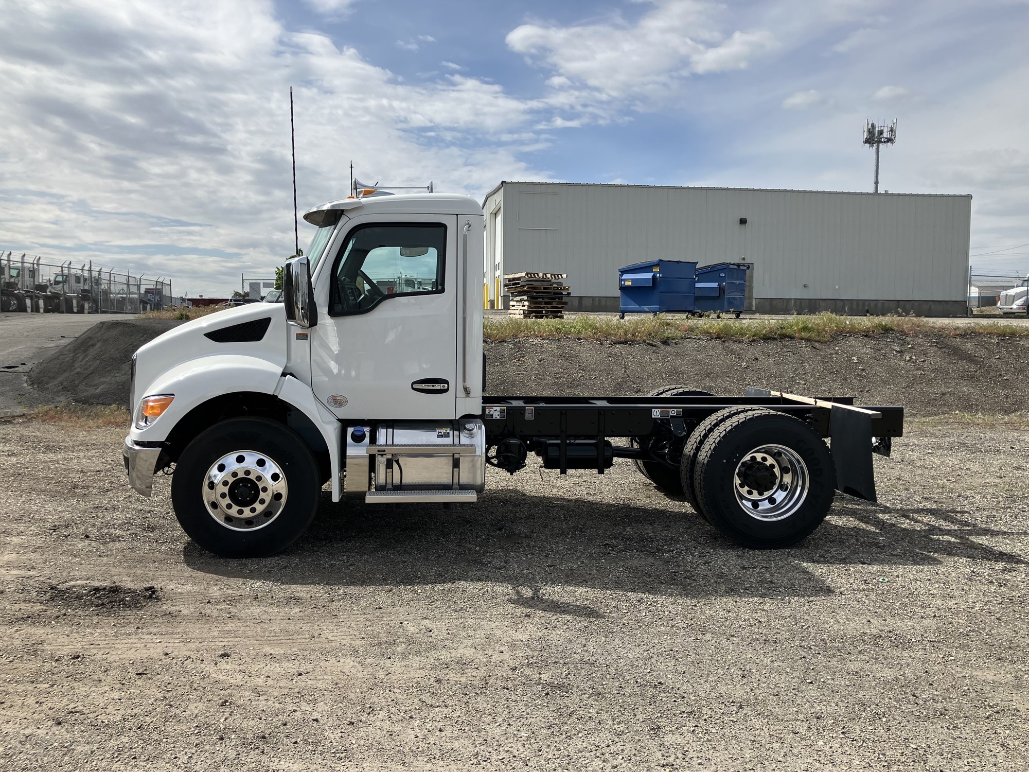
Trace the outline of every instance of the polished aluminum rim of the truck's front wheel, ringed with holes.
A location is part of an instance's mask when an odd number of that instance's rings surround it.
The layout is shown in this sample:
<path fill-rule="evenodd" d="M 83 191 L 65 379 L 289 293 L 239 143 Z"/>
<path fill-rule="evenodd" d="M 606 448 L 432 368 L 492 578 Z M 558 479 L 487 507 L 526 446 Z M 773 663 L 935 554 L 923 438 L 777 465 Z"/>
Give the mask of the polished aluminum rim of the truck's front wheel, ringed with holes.
<path fill-rule="evenodd" d="M 288 492 L 279 465 L 254 451 L 225 454 L 211 464 L 203 483 L 208 513 L 234 531 L 255 531 L 274 523 Z"/>

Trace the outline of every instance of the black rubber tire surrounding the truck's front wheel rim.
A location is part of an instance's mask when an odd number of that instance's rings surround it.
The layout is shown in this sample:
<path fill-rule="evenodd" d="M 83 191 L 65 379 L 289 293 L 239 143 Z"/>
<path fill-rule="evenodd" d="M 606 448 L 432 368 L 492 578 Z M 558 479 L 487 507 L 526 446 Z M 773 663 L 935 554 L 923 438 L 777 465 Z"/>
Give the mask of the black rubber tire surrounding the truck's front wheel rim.
<path fill-rule="evenodd" d="M 242 451 L 267 455 L 288 485 L 278 515 L 253 530 L 223 525 L 219 518 L 224 514 L 212 515 L 204 496 L 212 465 Z M 318 508 L 319 478 L 318 462 L 292 429 L 264 418 L 232 418 L 207 429 L 182 451 L 172 477 L 172 504 L 182 529 L 204 550 L 223 558 L 267 557 L 285 550 L 311 524 Z"/>

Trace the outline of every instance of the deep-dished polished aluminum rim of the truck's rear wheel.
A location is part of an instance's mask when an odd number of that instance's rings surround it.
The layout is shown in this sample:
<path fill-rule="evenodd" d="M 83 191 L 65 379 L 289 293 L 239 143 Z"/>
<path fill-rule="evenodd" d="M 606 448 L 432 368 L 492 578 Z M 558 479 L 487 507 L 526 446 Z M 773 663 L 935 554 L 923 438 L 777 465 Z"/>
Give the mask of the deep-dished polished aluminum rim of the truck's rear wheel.
<path fill-rule="evenodd" d="M 795 513 L 808 497 L 808 467 L 781 445 L 762 445 L 745 454 L 733 476 L 736 500 L 750 517 L 764 522 Z"/>

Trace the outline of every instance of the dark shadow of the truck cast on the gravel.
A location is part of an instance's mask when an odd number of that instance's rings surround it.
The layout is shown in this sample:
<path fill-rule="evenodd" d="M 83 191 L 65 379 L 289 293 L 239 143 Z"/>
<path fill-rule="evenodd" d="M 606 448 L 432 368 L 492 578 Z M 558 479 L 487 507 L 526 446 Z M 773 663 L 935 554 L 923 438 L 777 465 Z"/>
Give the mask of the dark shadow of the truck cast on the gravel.
<path fill-rule="evenodd" d="M 512 588 L 510 602 L 557 613 L 538 588 L 556 585 L 674 597 L 814 597 L 833 590 L 811 564 L 934 565 L 945 558 L 1021 563 L 975 541 L 1006 534 L 937 510 L 889 510 L 840 497 L 802 545 L 751 551 L 689 511 L 531 496 L 510 490 L 477 506 L 332 503 L 325 494 L 306 536 L 282 555 L 216 558 L 187 542 L 190 568 L 284 585 Z M 870 580 L 870 582 L 873 580 Z M 558 605 L 561 605 L 560 603 Z M 566 604 L 574 606 L 575 604 Z"/>

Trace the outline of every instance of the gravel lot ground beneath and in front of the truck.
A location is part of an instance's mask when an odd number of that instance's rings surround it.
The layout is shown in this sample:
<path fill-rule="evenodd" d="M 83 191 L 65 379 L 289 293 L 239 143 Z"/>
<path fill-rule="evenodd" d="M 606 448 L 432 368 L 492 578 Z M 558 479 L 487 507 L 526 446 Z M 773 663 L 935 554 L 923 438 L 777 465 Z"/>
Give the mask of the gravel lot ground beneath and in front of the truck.
<path fill-rule="evenodd" d="M 123 431 L 0 423 L 6 770 L 1024 770 L 1029 429 L 920 422 L 803 545 L 627 462 L 192 547 Z"/>

